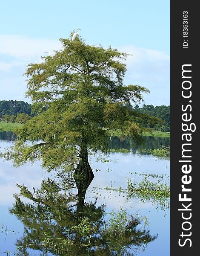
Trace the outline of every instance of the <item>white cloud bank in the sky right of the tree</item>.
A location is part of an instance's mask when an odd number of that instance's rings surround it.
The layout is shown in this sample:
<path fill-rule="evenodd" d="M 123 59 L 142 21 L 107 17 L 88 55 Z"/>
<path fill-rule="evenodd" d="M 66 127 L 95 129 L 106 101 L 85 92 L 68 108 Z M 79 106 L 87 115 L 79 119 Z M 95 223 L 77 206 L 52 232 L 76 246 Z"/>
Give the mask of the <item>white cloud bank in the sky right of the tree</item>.
<path fill-rule="evenodd" d="M 143 103 L 145 104 L 169 105 L 170 55 L 132 45 L 118 47 L 118 49 L 131 54 L 126 59 L 125 84 L 139 84 L 148 88 L 150 93 L 144 95 Z"/>

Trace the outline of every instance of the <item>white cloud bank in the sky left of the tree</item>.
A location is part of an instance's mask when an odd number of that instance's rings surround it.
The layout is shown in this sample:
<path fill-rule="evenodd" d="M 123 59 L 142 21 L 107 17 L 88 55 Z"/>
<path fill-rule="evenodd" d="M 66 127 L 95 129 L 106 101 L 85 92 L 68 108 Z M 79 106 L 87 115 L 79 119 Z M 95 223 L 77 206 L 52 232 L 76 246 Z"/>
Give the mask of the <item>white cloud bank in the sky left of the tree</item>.
<path fill-rule="evenodd" d="M 41 62 L 45 51 L 61 49 L 58 40 L 29 38 L 23 35 L 0 35 L 0 100 L 24 97 L 26 83 L 23 77 L 29 63 Z"/>

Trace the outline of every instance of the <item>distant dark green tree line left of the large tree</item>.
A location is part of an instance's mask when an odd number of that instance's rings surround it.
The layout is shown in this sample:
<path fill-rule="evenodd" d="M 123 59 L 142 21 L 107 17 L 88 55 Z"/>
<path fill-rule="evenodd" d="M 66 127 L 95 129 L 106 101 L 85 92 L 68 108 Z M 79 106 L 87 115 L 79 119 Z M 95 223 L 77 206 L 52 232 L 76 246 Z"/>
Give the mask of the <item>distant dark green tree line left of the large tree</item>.
<path fill-rule="evenodd" d="M 27 102 L 17 101 L 17 100 L 1 100 L 0 101 L 0 118 L 3 115 L 14 115 L 17 116 L 17 113 L 25 113 L 29 116 L 31 114 L 31 105 Z"/>

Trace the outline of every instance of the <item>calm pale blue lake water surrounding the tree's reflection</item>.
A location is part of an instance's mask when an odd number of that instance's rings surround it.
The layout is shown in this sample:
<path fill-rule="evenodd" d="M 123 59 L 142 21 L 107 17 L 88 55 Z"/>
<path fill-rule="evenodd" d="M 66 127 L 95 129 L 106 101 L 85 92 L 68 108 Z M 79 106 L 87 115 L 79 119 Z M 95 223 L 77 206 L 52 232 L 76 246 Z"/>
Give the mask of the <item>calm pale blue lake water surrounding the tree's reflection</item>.
<path fill-rule="evenodd" d="M 0 150 L 3 151 L 3 148 L 11 146 L 13 140 L 11 132 L 0 132 Z M 110 148 L 131 148 L 133 149 L 131 153 L 111 153 L 109 156 L 98 153 L 89 157 L 95 177 L 86 192 L 85 201 L 91 202 L 97 198 L 97 206 L 106 204 L 106 213 L 112 210 L 118 211 L 121 207 L 126 209 L 129 215 L 138 212 L 140 217 L 146 216 L 149 221 L 149 226 L 144 227 L 142 224 L 140 229 L 145 228 L 149 230 L 150 235 L 157 236 L 154 241 L 149 242 L 145 251 L 139 250 L 138 256 L 170 255 L 170 212 L 169 209 L 156 209 L 156 204 L 152 204 L 151 200 L 143 202 L 137 198 L 127 199 L 127 180 L 139 182 L 143 179 L 143 173 L 147 173 L 163 175 L 162 180 L 169 185 L 170 161 L 137 153 L 137 148 L 153 149 L 169 144 L 168 137 L 146 137 L 146 142 L 140 146 L 136 146 L 129 138 L 113 137 Z M 9 213 L 9 207 L 15 202 L 13 195 L 19 193 L 16 183 L 25 184 L 32 191 L 33 187 L 39 188 L 41 181 L 47 177 L 51 177 L 51 174 L 41 168 L 39 161 L 34 165 L 26 164 L 16 169 L 10 161 L 5 162 L 0 159 L 0 222 L 3 224 L 0 233 L 0 253 L 2 255 L 17 255 L 17 239 L 21 239 L 25 233 L 22 222 L 16 215 Z M 129 251 L 133 252 L 133 249 Z M 8 251 L 10 254 L 7 253 Z M 43 255 L 39 250 L 27 249 L 27 252 L 30 256 Z"/>

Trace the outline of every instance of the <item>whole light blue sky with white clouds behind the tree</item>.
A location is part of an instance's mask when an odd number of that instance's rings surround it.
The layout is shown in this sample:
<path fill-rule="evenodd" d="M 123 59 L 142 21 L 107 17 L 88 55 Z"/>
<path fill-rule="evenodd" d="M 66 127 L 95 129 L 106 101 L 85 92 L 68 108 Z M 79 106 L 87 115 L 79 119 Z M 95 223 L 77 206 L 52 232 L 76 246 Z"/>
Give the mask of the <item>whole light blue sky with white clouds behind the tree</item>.
<path fill-rule="evenodd" d="M 1 2 L 0 24 L 0 100 L 31 103 L 27 64 L 81 28 L 87 44 L 131 54 L 124 84 L 150 90 L 142 105 L 170 105 L 170 0 L 9 0 Z"/>

